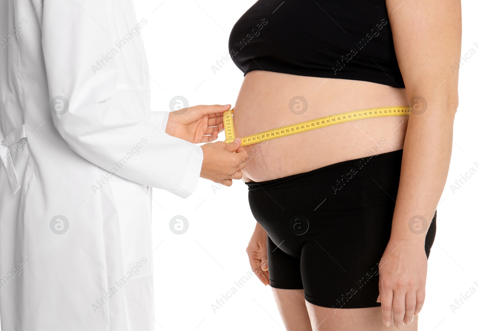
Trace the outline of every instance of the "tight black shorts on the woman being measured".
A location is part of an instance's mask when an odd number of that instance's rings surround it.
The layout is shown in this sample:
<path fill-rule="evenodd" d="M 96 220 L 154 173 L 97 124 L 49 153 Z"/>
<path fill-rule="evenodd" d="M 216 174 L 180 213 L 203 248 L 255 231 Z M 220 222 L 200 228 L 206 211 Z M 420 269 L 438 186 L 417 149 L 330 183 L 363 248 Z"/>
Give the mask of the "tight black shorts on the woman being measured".
<path fill-rule="evenodd" d="M 304 289 L 329 308 L 380 306 L 379 268 L 391 234 L 402 150 L 266 182 L 247 182 L 252 214 L 268 234 L 273 288 Z M 436 213 L 426 234 L 428 257 Z M 426 231 L 413 227 L 419 235 Z"/>

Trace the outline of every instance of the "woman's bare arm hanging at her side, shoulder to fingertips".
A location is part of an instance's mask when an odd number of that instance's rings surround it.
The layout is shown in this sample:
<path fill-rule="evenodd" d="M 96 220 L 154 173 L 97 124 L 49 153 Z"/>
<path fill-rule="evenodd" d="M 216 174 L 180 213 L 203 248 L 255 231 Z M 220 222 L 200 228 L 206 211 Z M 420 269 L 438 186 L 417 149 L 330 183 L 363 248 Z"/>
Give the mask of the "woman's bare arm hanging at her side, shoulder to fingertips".
<path fill-rule="evenodd" d="M 386 0 L 395 53 L 414 107 L 403 147 L 391 238 L 380 269 L 385 325 L 401 326 L 422 309 L 426 229 L 443 192 L 458 107 L 461 3 L 459 0 Z M 417 101 L 418 100 L 418 101 Z M 421 109 L 423 107 L 423 109 Z M 424 231 L 412 231 L 424 217 Z M 420 224 L 417 224 L 420 226 Z M 420 234 L 421 233 L 421 234 Z M 399 327 L 401 328 L 401 327 Z"/>

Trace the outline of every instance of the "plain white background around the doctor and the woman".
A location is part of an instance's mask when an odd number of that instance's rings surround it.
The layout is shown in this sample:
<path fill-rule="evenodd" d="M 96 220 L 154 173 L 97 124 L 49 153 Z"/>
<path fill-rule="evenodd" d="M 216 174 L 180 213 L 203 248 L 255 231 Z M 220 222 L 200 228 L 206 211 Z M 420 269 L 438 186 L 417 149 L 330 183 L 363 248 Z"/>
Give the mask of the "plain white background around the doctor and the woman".
<path fill-rule="evenodd" d="M 211 66 L 228 53 L 232 26 L 254 2 L 135 1 L 137 19 L 148 21 L 141 33 L 150 63 L 152 110 L 168 110 L 170 100 L 178 95 L 185 96 L 190 106 L 234 105 L 242 73 L 231 60 L 216 73 Z M 476 1 L 462 1 L 462 12 L 465 55 L 470 48 L 478 51 Z M 478 329 L 478 293 L 455 312 L 450 308 L 470 287 L 478 290 L 478 174 L 459 190 L 450 188 L 470 168 L 478 170 L 477 66 L 475 54 L 460 69 L 455 143 L 438 206 L 420 330 Z M 161 190 L 153 193 L 156 330 L 284 330 L 270 287 L 264 287 L 255 276 L 242 288 L 234 283 L 250 270 L 245 248 L 255 220 L 247 187 L 236 181 L 232 187 L 214 191 L 212 185 L 218 186 L 200 179 L 196 192 L 186 200 Z M 226 207 L 233 211 L 227 218 Z M 183 235 L 174 234 L 169 227 L 178 214 L 189 223 Z M 238 292 L 214 312 L 211 304 L 232 287 Z M 145 318 L 150 317 L 145 313 Z"/>

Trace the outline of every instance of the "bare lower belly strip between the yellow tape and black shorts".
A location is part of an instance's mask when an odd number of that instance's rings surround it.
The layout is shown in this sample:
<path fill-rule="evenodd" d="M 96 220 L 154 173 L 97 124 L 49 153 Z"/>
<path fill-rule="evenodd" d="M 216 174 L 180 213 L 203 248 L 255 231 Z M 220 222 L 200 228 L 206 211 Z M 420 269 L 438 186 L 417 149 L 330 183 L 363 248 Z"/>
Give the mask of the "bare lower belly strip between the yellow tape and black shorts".
<path fill-rule="evenodd" d="M 402 126 L 405 128 L 406 124 L 403 123 L 395 132 Z M 248 161 L 242 170 L 243 180 L 269 181 L 403 149 L 404 130 L 395 134 L 389 129 L 391 126 L 379 128 L 381 132 L 352 138 L 353 135 L 348 134 L 352 128 L 329 127 L 245 146 Z"/>

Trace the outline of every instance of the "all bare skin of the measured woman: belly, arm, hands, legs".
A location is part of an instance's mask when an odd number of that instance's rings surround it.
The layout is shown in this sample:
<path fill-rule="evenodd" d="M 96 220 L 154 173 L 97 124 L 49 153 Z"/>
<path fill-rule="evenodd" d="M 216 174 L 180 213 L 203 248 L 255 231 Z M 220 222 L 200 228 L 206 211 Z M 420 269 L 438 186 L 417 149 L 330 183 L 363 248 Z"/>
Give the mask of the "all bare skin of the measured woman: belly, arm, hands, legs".
<path fill-rule="evenodd" d="M 236 102 L 234 120 L 239 137 L 340 112 L 408 106 L 408 100 L 414 103 L 416 96 L 428 105 L 424 113 L 414 113 L 408 121 L 403 117 L 373 118 L 271 140 L 260 149 L 244 147 L 255 156 L 243 171 L 243 180 L 255 182 L 364 157 L 381 138 L 387 142 L 380 153 L 403 148 L 391 237 L 382 257 L 387 263 L 380 268 L 377 301 L 381 308 L 334 311 L 307 302 L 307 319 L 303 291 L 273 289 L 288 331 L 417 330 L 416 316 L 425 299 L 426 231 L 417 235 L 409 223 L 413 215 L 420 215 L 428 220 L 424 224 L 428 229 L 445 186 L 458 107 L 458 73 L 450 67 L 460 58 L 461 4 L 459 0 L 386 0 L 386 5 L 406 90 L 254 71 L 246 75 Z M 304 115 L 289 110 L 294 96 L 307 99 L 309 108 Z M 251 267 L 266 284 L 264 236 L 256 226 L 248 254 Z"/>

